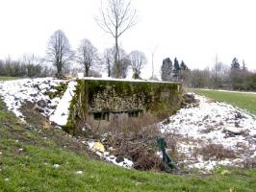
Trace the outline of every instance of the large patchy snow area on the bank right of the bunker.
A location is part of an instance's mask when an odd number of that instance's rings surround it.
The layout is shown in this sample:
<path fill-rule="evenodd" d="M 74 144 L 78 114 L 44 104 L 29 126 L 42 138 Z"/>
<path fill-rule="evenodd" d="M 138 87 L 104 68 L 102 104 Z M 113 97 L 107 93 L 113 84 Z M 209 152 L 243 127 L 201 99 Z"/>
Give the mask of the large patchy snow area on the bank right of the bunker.
<path fill-rule="evenodd" d="M 160 124 L 164 135 L 178 135 L 177 151 L 185 156 L 183 162 L 191 168 L 211 170 L 217 165 L 241 166 L 242 161 L 256 160 L 256 116 L 193 95 L 199 101 L 198 107 L 181 108 L 166 123 Z M 206 160 L 196 153 L 210 144 L 221 145 L 223 149 L 234 152 L 236 157 L 218 159 L 217 156 L 211 156 Z"/>

